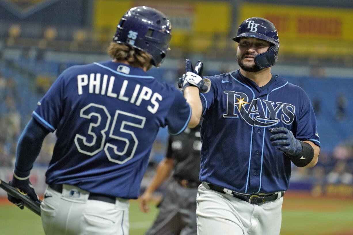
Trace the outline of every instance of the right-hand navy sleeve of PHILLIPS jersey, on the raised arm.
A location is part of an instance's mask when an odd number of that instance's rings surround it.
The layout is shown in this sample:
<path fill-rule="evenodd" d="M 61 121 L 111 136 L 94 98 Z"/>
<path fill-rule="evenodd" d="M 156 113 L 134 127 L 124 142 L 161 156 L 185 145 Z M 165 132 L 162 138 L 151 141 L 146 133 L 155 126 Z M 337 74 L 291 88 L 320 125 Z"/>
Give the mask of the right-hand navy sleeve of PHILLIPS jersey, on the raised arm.
<path fill-rule="evenodd" d="M 166 124 L 168 125 L 169 134 L 177 135 L 187 127 L 191 118 L 191 107 L 179 90 L 173 88 L 171 92 L 174 92 L 175 97 L 169 108 Z"/>

